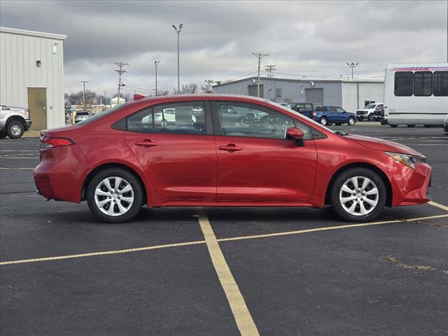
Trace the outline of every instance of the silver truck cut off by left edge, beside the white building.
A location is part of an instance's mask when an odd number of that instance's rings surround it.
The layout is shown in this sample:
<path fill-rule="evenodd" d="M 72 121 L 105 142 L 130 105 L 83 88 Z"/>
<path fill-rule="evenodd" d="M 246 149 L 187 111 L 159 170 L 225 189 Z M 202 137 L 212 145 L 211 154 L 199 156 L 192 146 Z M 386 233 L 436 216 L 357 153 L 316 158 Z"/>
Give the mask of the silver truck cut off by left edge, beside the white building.
<path fill-rule="evenodd" d="M 0 105 L 0 139 L 22 137 L 31 127 L 29 110 L 18 106 Z"/>

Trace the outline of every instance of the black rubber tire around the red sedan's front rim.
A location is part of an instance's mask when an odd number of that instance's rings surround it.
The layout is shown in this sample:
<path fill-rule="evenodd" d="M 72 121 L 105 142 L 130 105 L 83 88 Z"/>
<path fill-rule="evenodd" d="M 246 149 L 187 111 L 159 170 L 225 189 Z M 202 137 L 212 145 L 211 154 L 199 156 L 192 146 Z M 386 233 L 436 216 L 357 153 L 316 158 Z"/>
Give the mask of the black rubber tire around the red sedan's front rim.
<path fill-rule="evenodd" d="M 370 212 L 368 212 L 365 215 L 357 216 L 350 214 L 348 211 L 344 209 L 344 207 L 342 207 L 341 201 L 339 200 L 339 192 L 341 192 L 342 186 L 344 185 L 344 183 L 346 183 L 346 181 L 355 176 L 366 177 L 367 179 L 370 179 L 377 186 L 378 190 L 377 204 Z M 362 183 L 362 180 L 360 180 L 360 183 Z M 358 196 L 358 194 L 355 195 Z M 367 196 L 358 196 L 358 197 L 367 197 Z M 349 222 L 371 221 L 374 218 L 377 218 L 377 216 L 381 214 L 381 211 L 383 210 L 384 205 L 386 204 L 386 199 L 387 199 L 387 189 L 386 186 L 384 185 L 384 181 L 376 172 L 363 167 L 353 167 L 346 169 L 344 172 L 342 172 L 337 176 L 330 190 L 330 200 L 332 208 L 335 210 L 336 214 L 340 218 Z"/>

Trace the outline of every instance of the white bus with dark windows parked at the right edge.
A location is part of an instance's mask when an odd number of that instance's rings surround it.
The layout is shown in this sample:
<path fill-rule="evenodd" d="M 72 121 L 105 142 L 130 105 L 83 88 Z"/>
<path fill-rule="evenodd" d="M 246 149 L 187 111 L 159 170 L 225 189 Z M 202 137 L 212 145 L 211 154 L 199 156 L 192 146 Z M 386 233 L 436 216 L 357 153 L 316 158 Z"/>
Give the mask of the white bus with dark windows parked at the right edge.
<path fill-rule="evenodd" d="M 381 125 L 443 125 L 448 113 L 448 63 L 388 64 Z"/>

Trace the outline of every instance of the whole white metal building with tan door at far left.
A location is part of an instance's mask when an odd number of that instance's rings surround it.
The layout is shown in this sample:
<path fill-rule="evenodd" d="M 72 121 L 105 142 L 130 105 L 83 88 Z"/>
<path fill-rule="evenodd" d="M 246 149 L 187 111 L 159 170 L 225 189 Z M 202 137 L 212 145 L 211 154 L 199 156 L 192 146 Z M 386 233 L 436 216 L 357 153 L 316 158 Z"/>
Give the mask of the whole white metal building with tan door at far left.
<path fill-rule="evenodd" d="M 31 130 L 64 126 L 65 39 L 0 27 L 0 103 L 29 108 Z"/>

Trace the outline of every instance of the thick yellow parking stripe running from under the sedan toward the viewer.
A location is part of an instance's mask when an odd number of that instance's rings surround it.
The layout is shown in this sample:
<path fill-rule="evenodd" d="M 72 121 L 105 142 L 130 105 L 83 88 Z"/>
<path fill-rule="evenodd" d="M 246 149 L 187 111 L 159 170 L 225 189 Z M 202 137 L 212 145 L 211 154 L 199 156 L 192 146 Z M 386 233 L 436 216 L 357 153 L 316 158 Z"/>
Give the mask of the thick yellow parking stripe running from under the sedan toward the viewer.
<path fill-rule="evenodd" d="M 253 318 L 247 309 L 244 297 L 241 295 L 235 279 L 233 279 L 232 272 L 230 272 L 227 262 L 225 262 L 223 252 L 219 247 L 207 215 L 202 209 L 198 209 L 197 214 L 202 233 L 204 233 L 204 238 L 207 243 L 207 248 L 209 249 L 211 262 L 213 262 L 216 274 L 218 274 L 218 279 L 221 282 L 221 286 L 223 286 L 225 296 L 230 304 L 230 309 L 235 317 L 241 336 L 259 336 L 260 334 L 258 333 L 257 326 L 253 322 Z"/>

